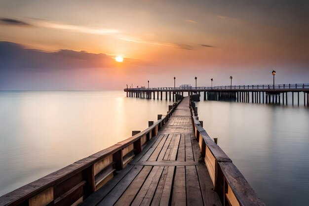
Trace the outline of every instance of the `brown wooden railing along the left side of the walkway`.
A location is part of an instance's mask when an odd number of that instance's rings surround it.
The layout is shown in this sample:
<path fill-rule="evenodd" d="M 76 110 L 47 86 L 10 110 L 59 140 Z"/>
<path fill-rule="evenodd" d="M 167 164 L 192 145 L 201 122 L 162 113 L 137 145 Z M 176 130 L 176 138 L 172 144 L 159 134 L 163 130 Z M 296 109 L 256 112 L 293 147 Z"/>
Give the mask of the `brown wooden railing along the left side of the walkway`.
<path fill-rule="evenodd" d="M 158 115 L 158 121 L 149 122 L 144 131 L 132 131 L 131 137 L 116 145 L 1 196 L 0 206 L 77 206 L 143 150 L 177 105 L 170 105 L 166 116 Z"/>

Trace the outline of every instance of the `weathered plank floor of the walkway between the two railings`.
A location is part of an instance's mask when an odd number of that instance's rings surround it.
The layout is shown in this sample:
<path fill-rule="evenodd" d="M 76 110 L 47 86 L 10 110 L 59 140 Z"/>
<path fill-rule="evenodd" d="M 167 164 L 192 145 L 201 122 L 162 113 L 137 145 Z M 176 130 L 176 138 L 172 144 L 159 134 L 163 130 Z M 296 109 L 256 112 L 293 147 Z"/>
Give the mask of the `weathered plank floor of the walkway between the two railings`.
<path fill-rule="evenodd" d="M 189 97 L 143 151 L 82 206 L 221 206 L 194 137 Z"/>

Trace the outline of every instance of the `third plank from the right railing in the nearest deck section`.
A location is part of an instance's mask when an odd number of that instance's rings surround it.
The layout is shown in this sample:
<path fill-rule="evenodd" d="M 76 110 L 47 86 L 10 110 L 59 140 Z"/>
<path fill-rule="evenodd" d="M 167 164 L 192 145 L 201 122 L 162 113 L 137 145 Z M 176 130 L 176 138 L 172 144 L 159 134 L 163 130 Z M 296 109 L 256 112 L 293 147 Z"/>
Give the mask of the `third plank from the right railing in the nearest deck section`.
<path fill-rule="evenodd" d="M 186 206 L 186 170 L 177 166 L 173 185 L 172 206 Z"/>

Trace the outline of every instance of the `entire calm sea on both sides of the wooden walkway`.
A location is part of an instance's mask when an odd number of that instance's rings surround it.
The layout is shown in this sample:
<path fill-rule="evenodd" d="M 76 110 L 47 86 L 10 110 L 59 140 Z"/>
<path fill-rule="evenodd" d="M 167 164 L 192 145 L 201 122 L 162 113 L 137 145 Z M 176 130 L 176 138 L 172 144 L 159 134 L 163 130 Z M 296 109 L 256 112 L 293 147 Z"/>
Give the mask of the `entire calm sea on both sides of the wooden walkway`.
<path fill-rule="evenodd" d="M 309 109 L 202 99 L 205 130 L 259 197 L 307 206 Z M 123 91 L 0 92 L 0 195 L 145 129 L 169 104 Z"/>

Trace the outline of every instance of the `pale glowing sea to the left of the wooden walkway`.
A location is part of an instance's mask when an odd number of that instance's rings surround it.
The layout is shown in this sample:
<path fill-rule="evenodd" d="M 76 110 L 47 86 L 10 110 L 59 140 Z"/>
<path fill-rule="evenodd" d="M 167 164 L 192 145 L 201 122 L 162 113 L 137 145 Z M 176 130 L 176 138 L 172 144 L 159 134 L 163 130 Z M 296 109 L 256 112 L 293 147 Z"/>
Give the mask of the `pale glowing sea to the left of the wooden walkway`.
<path fill-rule="evenodd" d="M 0 196 L 146 129 L 169 104 L 123 91 L 0 91 Z"/>

